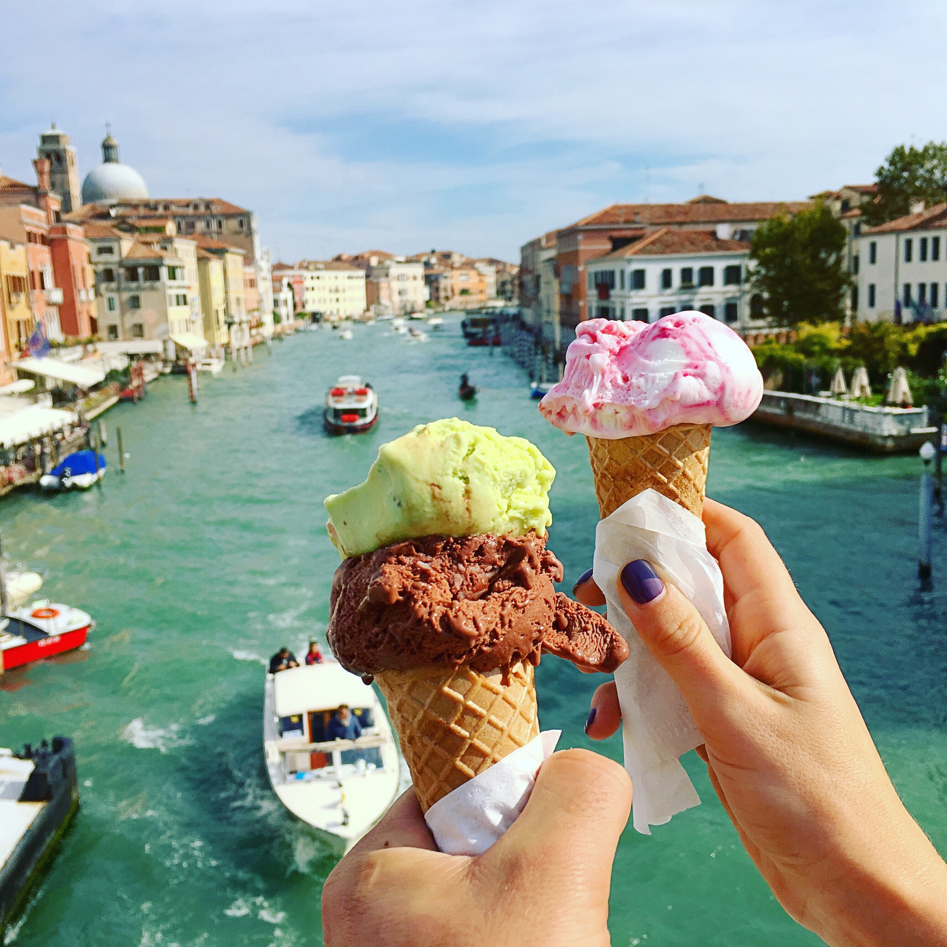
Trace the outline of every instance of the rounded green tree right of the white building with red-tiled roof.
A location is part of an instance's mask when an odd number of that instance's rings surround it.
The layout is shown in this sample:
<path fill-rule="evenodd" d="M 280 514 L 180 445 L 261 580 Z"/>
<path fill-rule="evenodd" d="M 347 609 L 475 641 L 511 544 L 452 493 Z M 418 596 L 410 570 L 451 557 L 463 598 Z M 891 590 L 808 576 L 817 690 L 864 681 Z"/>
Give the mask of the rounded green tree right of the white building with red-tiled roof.
<path fill-rule="evenodd" d="M 841 322 L 852 285 L 843 265 L 845 243 L 845 227 L 822 202 L 759 227 L 750 249 L 756 262 L 750 284 L 762 297 L 760 314 L 781 326 Z"/>

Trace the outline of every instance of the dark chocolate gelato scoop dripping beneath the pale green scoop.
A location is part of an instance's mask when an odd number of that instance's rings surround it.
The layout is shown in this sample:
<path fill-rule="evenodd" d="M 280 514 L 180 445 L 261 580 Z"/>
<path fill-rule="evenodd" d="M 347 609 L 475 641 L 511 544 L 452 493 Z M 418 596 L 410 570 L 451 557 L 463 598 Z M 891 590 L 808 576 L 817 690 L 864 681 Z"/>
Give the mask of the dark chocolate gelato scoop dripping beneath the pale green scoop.
<path fill-rule="evenodd" d="M 486 673 L 546 649 L 612 671 L 628 646 L 599 614 L 557 593 L 563 565 L 534 532 L 424 536 L 342 563 L 332 581 L 329 643 L 369 676 L 425 665 Z"/>

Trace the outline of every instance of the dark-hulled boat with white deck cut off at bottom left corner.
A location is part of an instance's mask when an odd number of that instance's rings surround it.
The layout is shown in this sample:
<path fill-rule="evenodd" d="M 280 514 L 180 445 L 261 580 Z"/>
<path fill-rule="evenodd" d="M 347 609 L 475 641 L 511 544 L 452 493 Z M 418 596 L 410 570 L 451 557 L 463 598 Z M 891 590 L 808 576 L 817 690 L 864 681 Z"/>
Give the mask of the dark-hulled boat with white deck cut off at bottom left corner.
<path fill-rule="evenodd" d="M 79 811 L 76 751 L 53 737 L 20 753 L 0 749 L 0 943 L 27 905 L 56 844 Z"/>

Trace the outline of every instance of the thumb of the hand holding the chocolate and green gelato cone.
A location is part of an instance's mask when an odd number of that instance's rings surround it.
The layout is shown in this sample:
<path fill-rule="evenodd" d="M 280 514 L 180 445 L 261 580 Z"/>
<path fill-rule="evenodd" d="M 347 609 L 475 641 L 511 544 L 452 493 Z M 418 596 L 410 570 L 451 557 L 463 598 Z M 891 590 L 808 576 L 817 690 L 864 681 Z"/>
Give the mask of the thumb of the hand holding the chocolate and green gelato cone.
<path fill-rule="evenodd" d="M 526 808 L 478 860 L 498 878 L 528 865 L 532 886 L 560 892 L 608 891 L 618 837 L 632 808 L 632 782 L 612 759 L 589 750 L 554 753 L 540 767 Z"/>

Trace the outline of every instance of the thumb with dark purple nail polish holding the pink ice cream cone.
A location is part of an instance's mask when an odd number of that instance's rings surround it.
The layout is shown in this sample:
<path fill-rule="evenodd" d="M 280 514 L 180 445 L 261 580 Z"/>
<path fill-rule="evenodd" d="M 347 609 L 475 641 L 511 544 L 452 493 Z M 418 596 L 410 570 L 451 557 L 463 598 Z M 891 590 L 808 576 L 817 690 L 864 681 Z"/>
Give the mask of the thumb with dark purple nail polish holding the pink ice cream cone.
<path fill-rule="evenodd" d="M 706 714 L 742 685 L 742 673 L 717 644 L 700 612 L 677 586 L 666 584 L 647 559 L 618 574 L 618 597 L 634 630 L 670 674 L 701 728 Z"/>

